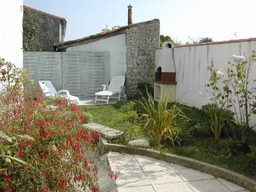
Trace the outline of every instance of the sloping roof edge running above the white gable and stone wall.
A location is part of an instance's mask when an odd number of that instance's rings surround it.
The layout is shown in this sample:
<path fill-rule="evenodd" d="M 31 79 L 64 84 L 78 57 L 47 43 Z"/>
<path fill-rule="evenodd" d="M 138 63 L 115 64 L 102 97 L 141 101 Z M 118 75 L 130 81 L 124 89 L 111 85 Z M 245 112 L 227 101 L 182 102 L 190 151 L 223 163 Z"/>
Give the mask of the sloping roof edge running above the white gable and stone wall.
<path fill-rule="evenodd" d="M 155 21 L 159 21 L 159 19 L 147 20 L 146 22 L 139 22 L 139 23 L 135 23 L 127 26 L 122 26 L 118 29 L 110 30 L 107 32 L 101 32 L 101 33 L 97 33 L 94 35 L 90 35 L 90 36 L 75 39 L 75 40 L 59 42 L 58 44 L 54 44 L 54 47 L 62 49 L 62 48 L 76 46 L 76 45 L 87 44 L 88 42 L 92 42 L 92 41 L 100 40 L 102 38 L 108 38 L 108 37 L 125 33 L 126 29 L 128 28 L 138 27 L 141 24 L 147 24 L 147 23 L 149 24 Z"/>

